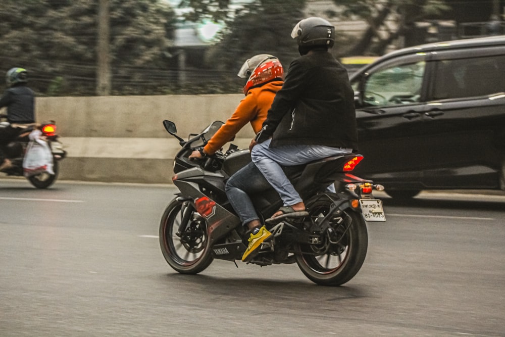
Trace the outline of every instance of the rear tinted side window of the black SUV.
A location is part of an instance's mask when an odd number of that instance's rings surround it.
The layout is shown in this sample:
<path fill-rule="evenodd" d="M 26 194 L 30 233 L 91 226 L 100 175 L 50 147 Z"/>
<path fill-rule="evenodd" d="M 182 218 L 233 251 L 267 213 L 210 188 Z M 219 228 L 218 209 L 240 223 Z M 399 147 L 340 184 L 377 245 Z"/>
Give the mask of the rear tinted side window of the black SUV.
<path fill-rule="evenodd" d="M 458 99 L 505 91 L 505 56 L 441 60 L 433 81 L 433 99 Z"/>

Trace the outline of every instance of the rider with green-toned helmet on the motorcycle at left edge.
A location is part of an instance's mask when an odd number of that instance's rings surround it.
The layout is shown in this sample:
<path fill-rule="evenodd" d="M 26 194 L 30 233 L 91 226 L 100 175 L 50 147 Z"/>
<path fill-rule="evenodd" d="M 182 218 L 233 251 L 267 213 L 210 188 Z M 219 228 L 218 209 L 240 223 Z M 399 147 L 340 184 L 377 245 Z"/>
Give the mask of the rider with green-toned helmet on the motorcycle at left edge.
<path fill-rule="evenodd" d="M 7 107 L 7 114 L 2 116 L 7 117 L 7 121 L 10 124 L 34 123 L 35 95 L 33 90 L 26 86 L 28 82 L 28 73 L 26 69 L 10 69 L 6 75 L 6 82 L 8 89 L 4 92 L 2 98 L 0 98 L 0 108 Z M 11 125 L 0 127 L 0 170 L 11 166 L 7 145 L 17 134 L 18 130 Z"/>

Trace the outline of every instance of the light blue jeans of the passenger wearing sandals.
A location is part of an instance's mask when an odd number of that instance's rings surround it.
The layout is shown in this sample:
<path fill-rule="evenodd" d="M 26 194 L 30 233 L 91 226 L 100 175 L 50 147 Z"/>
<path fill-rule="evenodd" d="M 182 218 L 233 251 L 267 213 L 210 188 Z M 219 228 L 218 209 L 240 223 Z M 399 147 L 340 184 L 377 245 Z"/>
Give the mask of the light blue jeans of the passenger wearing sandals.
<path fill-rule="evenodd" d="M 251 159 L 278 192 L 284 206 L 292 206 L 303 200 L 284 174 L 281 165 L 307 164 L 318 159 L 346 155 L 352 152 L 352 149 L 322 145 L 284 145 L 271 148 L 270 141 L 271 139 L 265 140 L 252 148 Z"/>

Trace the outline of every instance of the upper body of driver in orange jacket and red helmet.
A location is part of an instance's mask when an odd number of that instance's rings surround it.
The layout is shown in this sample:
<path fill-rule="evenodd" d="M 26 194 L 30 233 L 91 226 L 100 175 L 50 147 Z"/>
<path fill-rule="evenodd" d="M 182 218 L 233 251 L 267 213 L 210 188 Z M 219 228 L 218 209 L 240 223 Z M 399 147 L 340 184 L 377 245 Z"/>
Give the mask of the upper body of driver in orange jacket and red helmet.
<path fill-rule="evenodd" d="M 275 56 L 259 54 L 247 59 L 237 74 L 240 78 L 247 78 L 243 88 L 245 98 L 207 145 L 199 151 L 193 151 L 189 159 L 201 159 L 215 154 L 247 123 L 258 133 L 267 118 L 275 94 L 282 87 L 283 74 L 282 64 Z"/>

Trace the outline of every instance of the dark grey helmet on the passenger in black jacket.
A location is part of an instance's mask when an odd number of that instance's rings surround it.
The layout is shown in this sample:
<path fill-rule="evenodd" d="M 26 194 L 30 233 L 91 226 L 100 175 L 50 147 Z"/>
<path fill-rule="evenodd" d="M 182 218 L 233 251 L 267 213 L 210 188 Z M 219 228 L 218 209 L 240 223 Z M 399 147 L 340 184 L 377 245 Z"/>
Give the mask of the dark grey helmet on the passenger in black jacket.
<path fill-rule="evenodd" d="M 310 17 L 294 26 L 291 37 L 296 39 L 300 54 L 305 55 L 315 47 L 331 48 L 335 43 L 335 27 L 323 18 Z"/>

